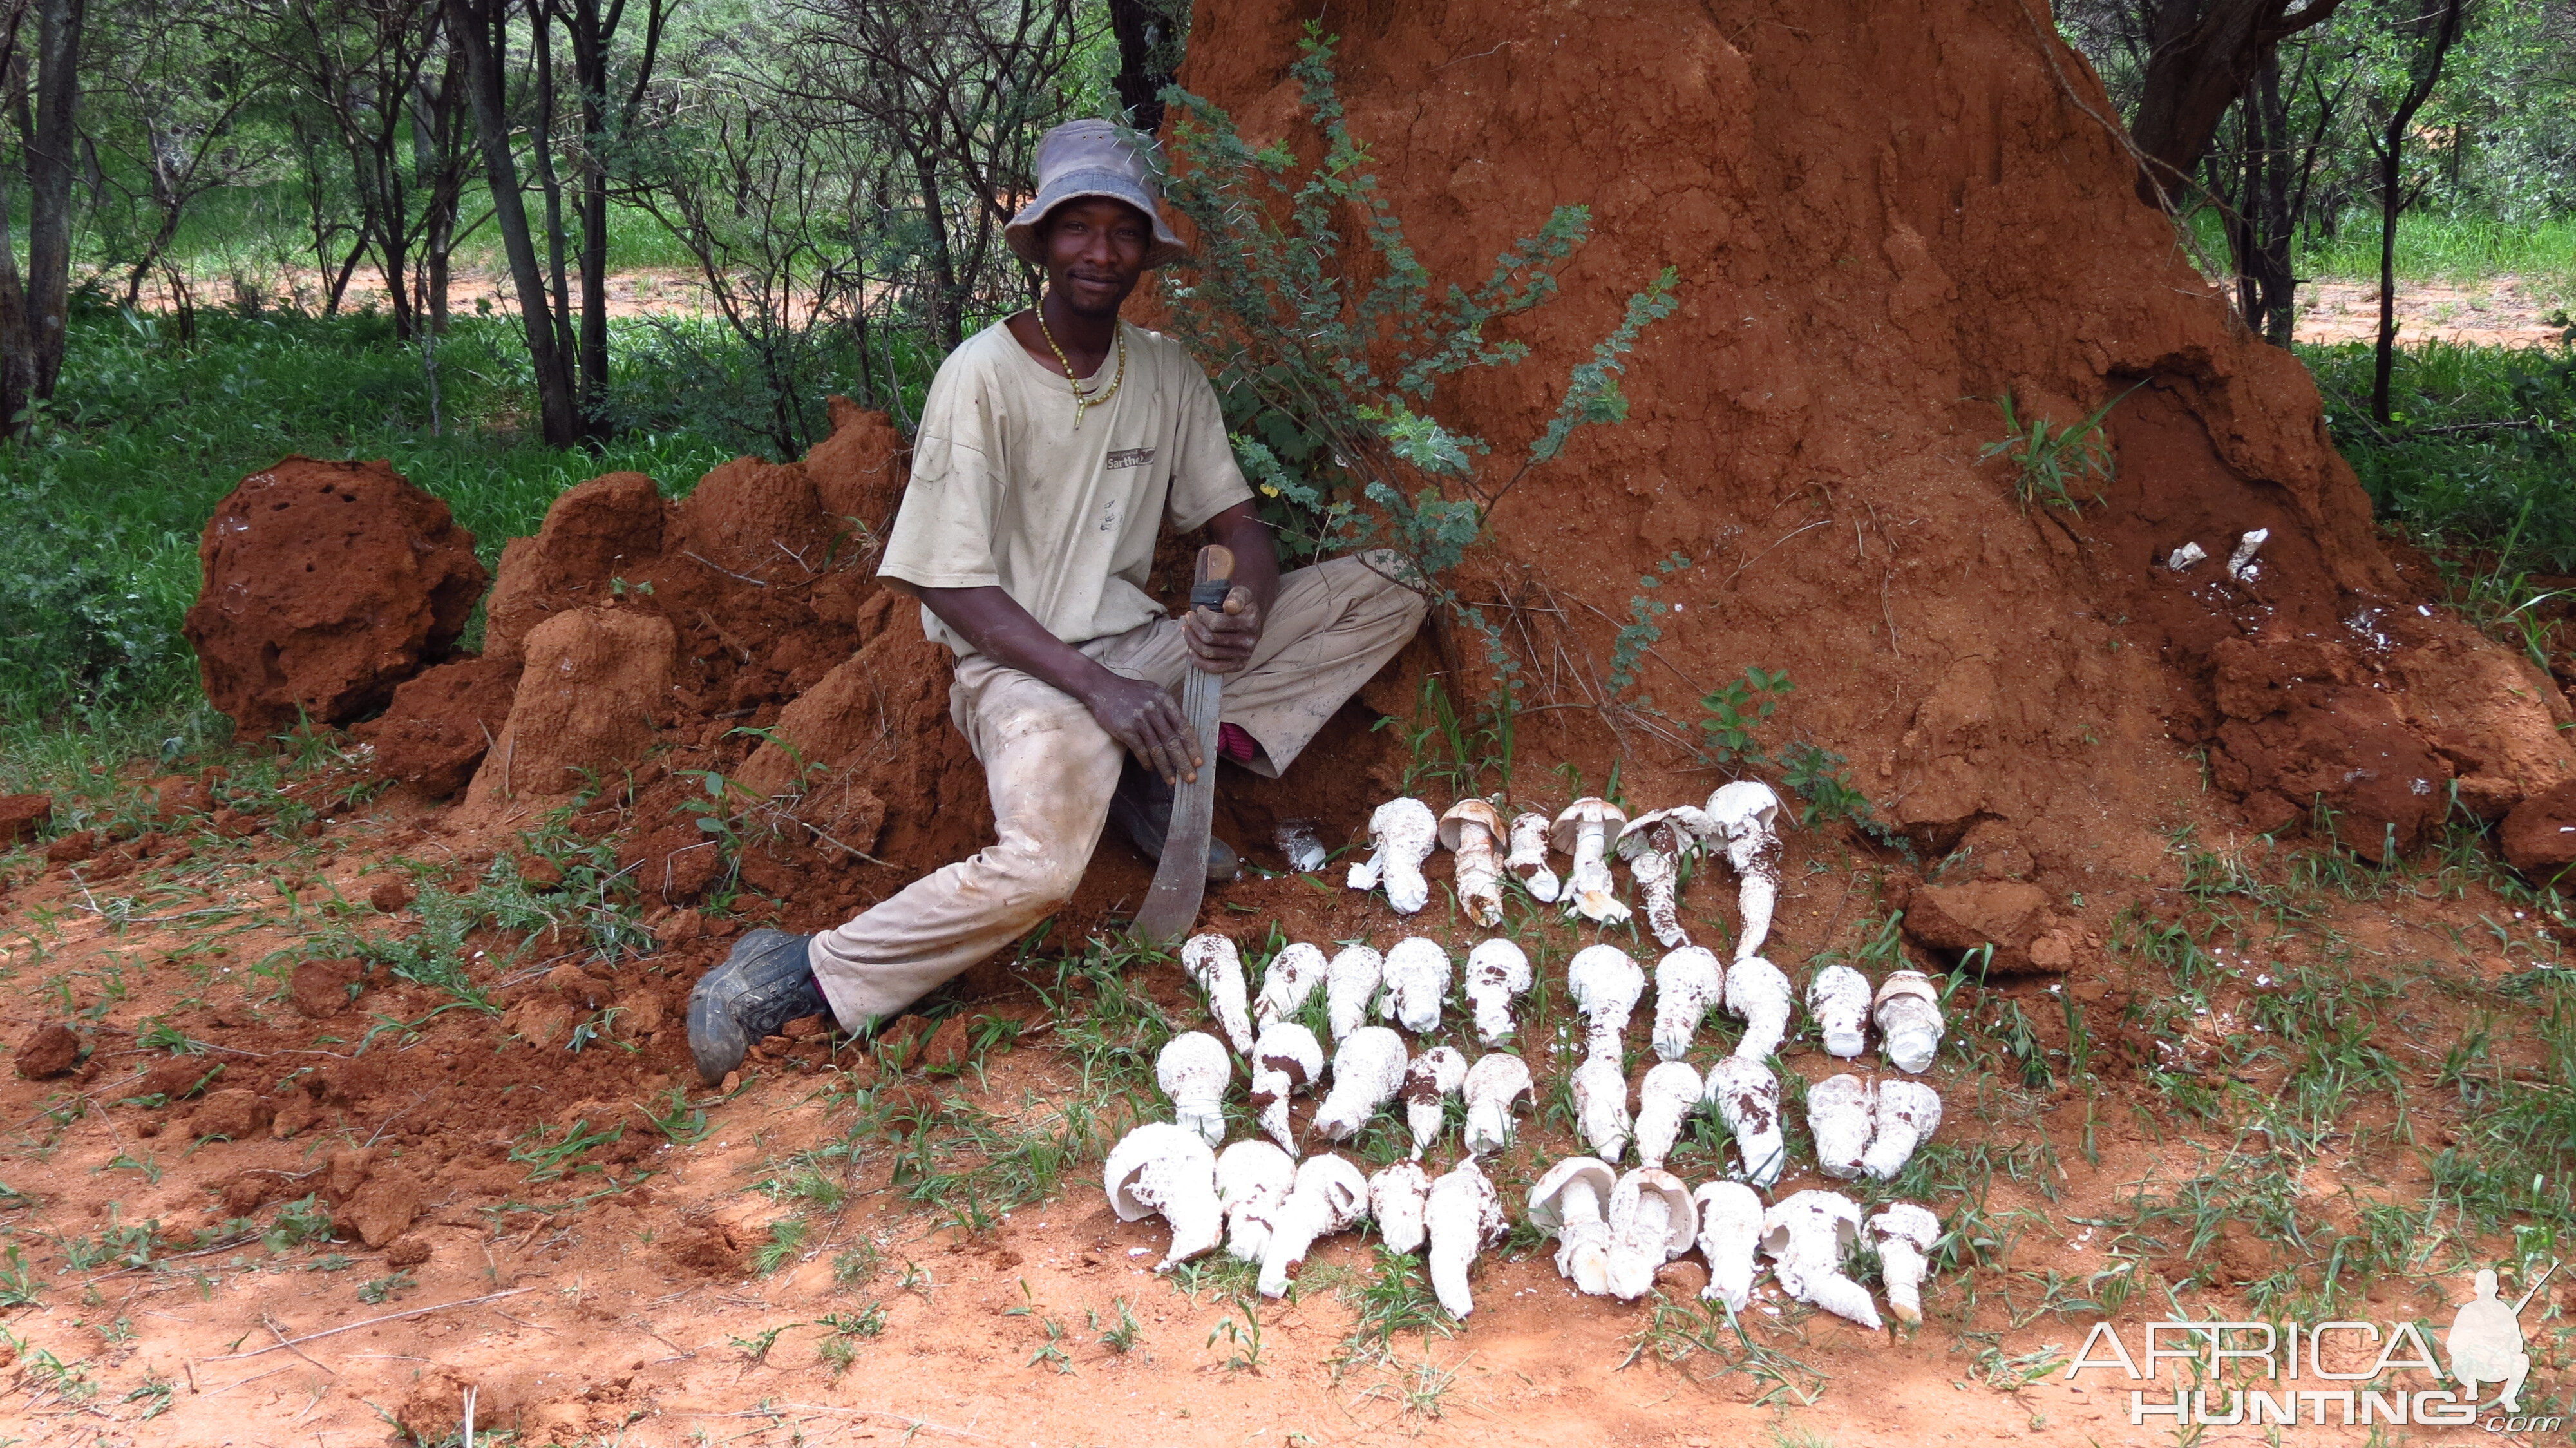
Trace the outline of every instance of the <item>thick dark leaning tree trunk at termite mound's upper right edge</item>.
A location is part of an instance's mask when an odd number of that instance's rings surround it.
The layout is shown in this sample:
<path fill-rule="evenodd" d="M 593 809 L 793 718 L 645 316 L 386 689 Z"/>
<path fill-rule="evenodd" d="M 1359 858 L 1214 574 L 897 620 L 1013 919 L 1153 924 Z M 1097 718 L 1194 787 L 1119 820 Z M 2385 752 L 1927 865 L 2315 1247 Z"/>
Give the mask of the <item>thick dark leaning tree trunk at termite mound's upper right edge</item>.
<path fill-rule="evenodd" d="M 2138 201 L 2182 209 L 2218 121 L 2280 41 L 2334 15 L 2342 0 L 2151 0 L 2146 85 L 2128 131 L 2138 142 Z"/>

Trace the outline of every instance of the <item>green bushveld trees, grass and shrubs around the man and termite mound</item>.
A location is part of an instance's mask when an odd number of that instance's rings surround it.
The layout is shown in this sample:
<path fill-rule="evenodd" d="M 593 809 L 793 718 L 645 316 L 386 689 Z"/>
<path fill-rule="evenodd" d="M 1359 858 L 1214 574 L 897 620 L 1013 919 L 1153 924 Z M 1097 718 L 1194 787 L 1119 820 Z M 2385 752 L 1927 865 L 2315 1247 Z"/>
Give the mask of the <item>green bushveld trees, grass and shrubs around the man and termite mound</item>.
<path fill-rule="evenodd" d="M 2076 0 L 2061 26 L 2251 325 L 2285 340 L 2303 286 L 2383 263 L 2563 317 L 2576 8 L 2447 8 Z M 2300 23 L 2174 59 L 2239 10 Z M 907 423 L 1033 294 L 999 224 L 1036 137 L 1159 124 L 1185 39 L 1180 0 L 0 0 L 0 770 L 67 724 L 111 752 L 222 734 L 178 616 L 198 526 L 278 453 L 386 456 L 497 554 L 598 472 L 793 456 L 832 392 Z M 1512 289 L 1582 224 L 1548 219 L 1479 307 L 1535 301 Z M 2481 577 L 2576 572 L 2576 350 L 2393 343 L 2300 345 L 2383 513 Z M 1316 443 L 1347 407 L 1298 417 L 1218 353 L 1280 497 L 1388 508 L 1314 466 L 1350 456 Z M 1597 381 L 1615 415 L 1615 361 Z M 1381 451 L 1445 456 L 1396 412 Z"/>

